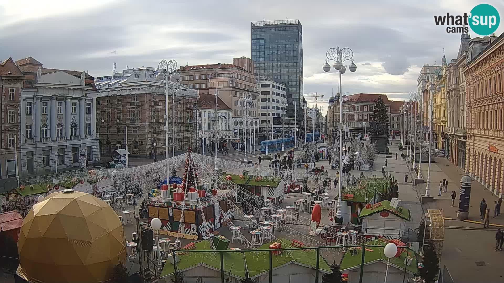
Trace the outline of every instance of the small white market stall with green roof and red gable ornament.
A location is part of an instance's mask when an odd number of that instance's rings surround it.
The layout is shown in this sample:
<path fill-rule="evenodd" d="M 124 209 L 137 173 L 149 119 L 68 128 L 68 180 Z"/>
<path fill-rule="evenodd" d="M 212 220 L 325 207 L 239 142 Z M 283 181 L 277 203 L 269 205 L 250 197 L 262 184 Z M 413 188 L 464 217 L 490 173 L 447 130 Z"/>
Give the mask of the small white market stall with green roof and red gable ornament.
<path fill-rule="evenodd" d="M 389 239 L 401 239 L 406 222 L 411 221 L 411 211 L 400 206 L 401 200 L 383 200 L 375 204 L 366 204 L 360 211 L 362 233 L 367 236 L 383 236 Z"/>

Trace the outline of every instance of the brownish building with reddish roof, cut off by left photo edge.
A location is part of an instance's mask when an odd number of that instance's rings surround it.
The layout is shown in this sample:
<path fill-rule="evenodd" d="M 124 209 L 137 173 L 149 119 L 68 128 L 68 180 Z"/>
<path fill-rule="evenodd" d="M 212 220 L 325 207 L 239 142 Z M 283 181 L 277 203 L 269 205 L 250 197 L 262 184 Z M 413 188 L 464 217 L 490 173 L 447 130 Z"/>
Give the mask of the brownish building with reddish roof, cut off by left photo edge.
<path fill-rule="evenodd" d="M 8 192 L 18 186 L 16 173 L 21 171 L 21 162 L 16 162 L 20 146 L 20 108 L 23 71 L 12 58 L 0 61 L 0 193 Z M 15 146 L 16 145 L 16 146 Z M 19 159 L 18 159 L 19 160 Z M 16 166 L 16 163 L 18 166 Z M 16 172 L 17 167 L 17 172 Z"/>

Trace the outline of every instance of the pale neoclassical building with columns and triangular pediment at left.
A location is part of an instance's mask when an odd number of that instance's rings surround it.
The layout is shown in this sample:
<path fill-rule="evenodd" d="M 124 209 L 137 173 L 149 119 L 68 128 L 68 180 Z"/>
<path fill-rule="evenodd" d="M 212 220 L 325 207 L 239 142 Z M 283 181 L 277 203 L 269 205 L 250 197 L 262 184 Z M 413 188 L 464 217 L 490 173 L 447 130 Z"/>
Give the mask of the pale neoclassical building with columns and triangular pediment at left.
<path fill-rule="evenodd" d="M 44 68 L 32 57 L 16 61 L 21 91 L 21 174 L 46 174 L 100 159 L 96 87 L 85 72 Z"/>

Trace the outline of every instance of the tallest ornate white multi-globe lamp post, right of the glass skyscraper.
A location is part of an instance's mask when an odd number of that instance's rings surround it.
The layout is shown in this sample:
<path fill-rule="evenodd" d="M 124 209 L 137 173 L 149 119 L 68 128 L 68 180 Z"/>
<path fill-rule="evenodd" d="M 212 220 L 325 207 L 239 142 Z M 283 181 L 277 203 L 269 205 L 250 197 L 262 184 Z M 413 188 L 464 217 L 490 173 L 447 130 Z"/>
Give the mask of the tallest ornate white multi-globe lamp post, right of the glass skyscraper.
<path fill-rule="evenodd" d="M 339 46 L 336 48 L 329 48 L 326 52 L 326 57 L 328 60 L 335 60 L 335 63 L 333 67 L 339 71 L 340 75 L 340 93 L 342 92 L 341 88 L 341 75 L 345 74 L 346 72 L 346 65 L 343 63 L 347 60 L 351 61 L 351 64 L 348 66 L 350 69 L 350 72 L 355 72 L 357 70 L 357 66 L 353 62 L 353 51 L 350 48 L 343 48 L 340 49 Z M 329 72 L 331 70 L 331 65 L 329 65 L 328 60 L 326 60 L 326 63 L 323 65 L 324 72 Z M 341 94 L 340 94 L 341 96 Z M 339 99 L 340 101 L 340 122 L 342 121 L 342 116 L 343 116 L 343 99 Z M 336 218 L 340 223 L 343 223 L 343 214 L 341 212 L 341 186 L 342 186 L 342 167 L 343 167 L 343 124 L 340 126 L 340 166 L 339 166 L 339 186 L 338 186 L 338 204 L 336 206 Z"/>

